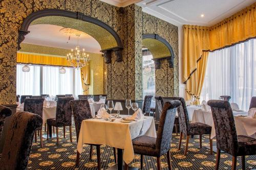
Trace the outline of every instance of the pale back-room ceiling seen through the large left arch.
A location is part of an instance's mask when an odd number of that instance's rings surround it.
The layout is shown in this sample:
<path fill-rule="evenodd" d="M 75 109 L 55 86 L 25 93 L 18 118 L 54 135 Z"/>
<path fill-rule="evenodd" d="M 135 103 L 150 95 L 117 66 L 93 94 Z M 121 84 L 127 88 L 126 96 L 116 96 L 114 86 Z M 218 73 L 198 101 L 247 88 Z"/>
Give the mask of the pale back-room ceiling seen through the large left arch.
<path fill-rule="evenodd" d="M 61 29 L 62 31 L 60 31 Z M 47 24 L 29 26 L 28 30 L 30 33 L 25 36 L 23 43 L 74 49 L 77 45 L 76 34 L 80 34 L 79 45 L 81 49 L 85 48 L 87 52 L 91 53 L 100 53 L 101 50 L 98 41 L 92 36 L 78 30 L 63 31 L 63 27 L 61 26 Z"/>

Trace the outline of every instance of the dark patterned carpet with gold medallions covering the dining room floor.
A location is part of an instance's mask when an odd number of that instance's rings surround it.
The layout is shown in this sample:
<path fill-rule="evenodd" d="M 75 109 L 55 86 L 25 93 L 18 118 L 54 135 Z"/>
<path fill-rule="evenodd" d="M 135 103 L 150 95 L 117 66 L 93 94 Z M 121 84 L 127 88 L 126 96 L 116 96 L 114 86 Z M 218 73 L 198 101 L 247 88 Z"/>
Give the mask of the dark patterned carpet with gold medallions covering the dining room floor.
<path fill-rule="evenodd" d="M 81 154 L 80 165 L 75 167 L 76 160 L 76 134 L 73 127 L 72 136 L 73 142 L 69 140 L 69 130 L 66 127 L 66 138 L 62 137 L 63 128 L 59 129 L 59 144 L 56 144 L 56 138 L 46 140 L 44 139 L 44 148 L 40 148 L 40 139 L 38 137 L 37 143 L 33 143 L 28 169 L 97 169 L 96 148 L 94 148 L 93 160 L 89 160 L 90 147 L 84 144 L 84 152 Z M 46 134 L 46 133 L 45 133 Z M 184 144 L 182 141 L 181 151 L 177 151 L 179 137 L 173 134 L 171 159 L 174 170 L 178 169 L 214 169 L 216 156 L 210 155 L 209 151 L 202 147 L 199 149 L 199 140 L 190 139 L 189 151 L 187 156 L 184 156 Z M 208 146 L 208 135 L 202 138 L 202 145 Z M 214 142 L 214 144 L 216 144 Z M 228 154 L 221 154 L 220 170 L 231 168 L 232 157 Z M 101 168 L 107 169 L 113 166 L 114 156 L 111 147 L 106 145 L 101 146 Z M 238 158 L 237 169 L 241 169 L 241 157 Z M 130 166 L 140 167 L 140 156 L 136 155 Z M 144 157 L 144 169 L 157 169 L 156 158 Z M 168 169 L 166 156 L 161 157 L 162 169 Z M 246 157 L 246 169 L 256 168 L 256 156 Z"/>

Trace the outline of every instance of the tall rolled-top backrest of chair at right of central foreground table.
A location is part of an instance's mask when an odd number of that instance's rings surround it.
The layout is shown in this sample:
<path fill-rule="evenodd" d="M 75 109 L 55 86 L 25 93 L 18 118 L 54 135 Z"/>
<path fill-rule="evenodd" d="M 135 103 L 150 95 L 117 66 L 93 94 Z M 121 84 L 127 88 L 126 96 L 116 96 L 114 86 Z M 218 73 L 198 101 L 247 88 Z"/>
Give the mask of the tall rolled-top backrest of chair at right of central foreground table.
<path fill-rule="evenodd" d="M 156 149 L 160 151 L 159 156 L 165 154 L 170 149 L 175 115 L 179 106 L 180 101 L 178 100 L 165 102 L 163 106 L 156 139 Z"/>

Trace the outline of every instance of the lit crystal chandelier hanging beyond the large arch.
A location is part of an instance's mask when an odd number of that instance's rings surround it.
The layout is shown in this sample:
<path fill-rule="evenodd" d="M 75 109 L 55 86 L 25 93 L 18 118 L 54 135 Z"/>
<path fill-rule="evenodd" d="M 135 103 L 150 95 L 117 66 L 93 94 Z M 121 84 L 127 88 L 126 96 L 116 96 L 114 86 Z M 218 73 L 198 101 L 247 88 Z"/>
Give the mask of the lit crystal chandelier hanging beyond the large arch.
<path fill-rule="evenodd" d="M 89 64 L 89 54 L 86 54 L 84 48 L 80 51 L 79 47 L 79 37 L 80 34 L 77 34 L 77 46 L 75 50 L 71 50 L 71 53 L 67 54 L 67 60 L 70 65 L 75 68 L 81 68 Z"/>

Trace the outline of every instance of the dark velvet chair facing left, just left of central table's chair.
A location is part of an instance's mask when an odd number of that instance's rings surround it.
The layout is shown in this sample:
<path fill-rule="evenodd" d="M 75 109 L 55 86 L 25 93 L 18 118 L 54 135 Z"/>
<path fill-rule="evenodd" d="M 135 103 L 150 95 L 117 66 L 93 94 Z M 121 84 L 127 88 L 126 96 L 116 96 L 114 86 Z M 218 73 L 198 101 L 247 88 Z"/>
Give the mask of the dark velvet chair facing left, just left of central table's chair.
<path fill-rule="evenodd" d="M 72 142 L 72 109 L 70 101 L 72 97 L 63 97 L 57 100 L 56 118 L 47 119 L 47 139 L 49 138 L 49 129 L 56 127 L 57 143 L 59 143 L 58 128 L 63 127 L 63 137 L 65 138 L 65 127 L 69 126 L 70 141 Z M 50 127 L 49 127 L 50 126 Z"/>

